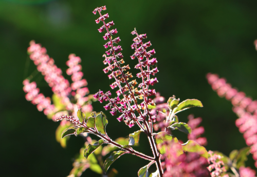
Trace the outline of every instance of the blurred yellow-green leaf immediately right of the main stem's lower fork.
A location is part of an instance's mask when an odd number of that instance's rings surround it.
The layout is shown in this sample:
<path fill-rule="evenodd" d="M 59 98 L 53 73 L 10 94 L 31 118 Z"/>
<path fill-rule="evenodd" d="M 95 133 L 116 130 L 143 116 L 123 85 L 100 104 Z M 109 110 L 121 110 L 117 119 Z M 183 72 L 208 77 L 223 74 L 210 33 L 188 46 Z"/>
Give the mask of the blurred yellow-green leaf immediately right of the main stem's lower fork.
<path fill-rule="evenodd" d="M 167 146 L 164 145 L 164 142 L 171 142 L 178 143 L 178 140 L 176 137 L 172 137 L 172 135 L 168 134 L 165 131 L 161 131 L 157 133 L 155 136 L 155 142 L 157 144 L 157 148 L 160 151 L 161 154 L 164 154 L 166 152 Z"/>

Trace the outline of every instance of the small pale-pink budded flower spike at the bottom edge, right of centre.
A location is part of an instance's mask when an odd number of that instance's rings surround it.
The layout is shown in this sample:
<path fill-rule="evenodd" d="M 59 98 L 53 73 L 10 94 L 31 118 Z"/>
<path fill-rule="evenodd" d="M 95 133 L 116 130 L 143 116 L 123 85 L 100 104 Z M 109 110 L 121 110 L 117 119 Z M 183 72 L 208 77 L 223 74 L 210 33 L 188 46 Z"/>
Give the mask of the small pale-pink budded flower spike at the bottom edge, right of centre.
<path fill-rule="evenodd" d="M 209 171 L 211 171 L 211 177 L 229 177 L 228 174 L 222 175 L 227 171 L 224 167 L 224 162 L 221 160 L 222 156 L 215 153 L 213 154 L 212 151 L 209 151 L 208 153 L 210 155 L 208 158 L 209 163 L 212 163 L 208 167 Z"/>

